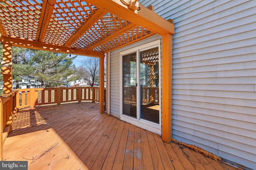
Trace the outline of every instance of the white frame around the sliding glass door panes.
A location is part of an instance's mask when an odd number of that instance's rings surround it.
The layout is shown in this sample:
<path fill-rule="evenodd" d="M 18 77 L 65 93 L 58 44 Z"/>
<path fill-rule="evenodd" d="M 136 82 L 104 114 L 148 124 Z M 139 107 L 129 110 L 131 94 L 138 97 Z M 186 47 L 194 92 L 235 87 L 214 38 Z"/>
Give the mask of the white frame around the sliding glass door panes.
<path fill-rule="evenodd" d="M 138 66 L 140 65 L 140 62 L 139 62 L 139 55 L 140 55 L 140 51 L 144 51 L 144 50 L 147 50 L 147 49 L 151 49 L 151 48 L 154 48 L 154 47 L 158 47 L 158 53 L 159 53 L 159 124 L 158 123 L 154 123 L 154 122 L 151 122 L 151 121 L 147 121 L 147 120 L 144 120 L 144 119 L 140 119 L 140 113 L 139 113 L 139 103 L 140 101 L 138 101 L 138 99 L 140 98 L 140 90 L 139 89 L 139 86 L 137 86 L 137 92 L 136 92 L 136 95 L 137 95 L 137 119 L 136 118 L 133 118 L 133 117 L 130 117 L 130 116 L 127 116 L 127 115 L 123 115 L 122 114 L 122 103 L 123 103 L 123 96 L 122 96 L 122 84 L 123 84 L 123 81 L 122 81 L 122 56 L 123 55 L 128 55 L 130 53 L 134 53 L 136 52 L 136 61 L 137 61 L 137 83 L 139 84 L 140 81 L 138 81 L 138 78 L 139 78 L 139 75 L 140 75 L 140 69 L 138 69 Z M 146 129 L 148 131 L 152 131 L 154 133 L 157 133 L 159 135 L 161 135 L 161 132 L 162 132 L 162 59 L 161 59 L 161 41 L 160 39 L 156 40 L 156 41 L 152 41 L 150 43 L 146 43 L 146 44 L 143 44 L 143 45 L 139 45 L 137 47 L 133 47 L 131 49 L 127 49 L 125 51 L 121 51 L 119 53 L 120 55 L 120 119 L 121 120 L 124 120 L 128 123 L 131 123 L 133 125 L 136 125 L 138 127 L 141 127 L 143 129 Z"/>

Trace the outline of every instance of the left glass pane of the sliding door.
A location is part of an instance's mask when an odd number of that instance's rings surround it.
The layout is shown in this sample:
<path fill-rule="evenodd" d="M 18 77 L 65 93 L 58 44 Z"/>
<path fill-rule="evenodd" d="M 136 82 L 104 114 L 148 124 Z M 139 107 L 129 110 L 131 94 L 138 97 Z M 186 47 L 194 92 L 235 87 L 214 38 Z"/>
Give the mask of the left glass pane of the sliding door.
<path fill-rule="evenodd" d="M 136 53 L 122 56 L 122 114 L 137 118 Z"/>

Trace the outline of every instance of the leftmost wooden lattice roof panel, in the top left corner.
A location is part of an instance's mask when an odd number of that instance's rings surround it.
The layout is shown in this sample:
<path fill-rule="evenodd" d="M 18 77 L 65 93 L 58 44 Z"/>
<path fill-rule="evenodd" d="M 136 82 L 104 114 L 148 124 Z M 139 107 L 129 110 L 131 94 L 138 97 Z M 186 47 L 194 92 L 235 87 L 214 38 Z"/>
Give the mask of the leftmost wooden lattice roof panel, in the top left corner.
<path fill-rule="evenodd" d="M 35 40 L 41 9 L 41 0 L 1 0 L 2 34 Z"/>

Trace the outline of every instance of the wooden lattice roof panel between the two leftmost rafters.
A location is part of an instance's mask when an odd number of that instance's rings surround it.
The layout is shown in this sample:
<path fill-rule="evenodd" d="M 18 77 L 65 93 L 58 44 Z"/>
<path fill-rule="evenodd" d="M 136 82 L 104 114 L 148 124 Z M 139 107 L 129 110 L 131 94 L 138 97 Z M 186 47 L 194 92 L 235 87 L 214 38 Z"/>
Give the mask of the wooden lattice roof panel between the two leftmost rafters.
<path fill-rule="evenodd" d="M 57 0 L 44 42 L 64 45 L 97 9 L 80 0 Z"/>

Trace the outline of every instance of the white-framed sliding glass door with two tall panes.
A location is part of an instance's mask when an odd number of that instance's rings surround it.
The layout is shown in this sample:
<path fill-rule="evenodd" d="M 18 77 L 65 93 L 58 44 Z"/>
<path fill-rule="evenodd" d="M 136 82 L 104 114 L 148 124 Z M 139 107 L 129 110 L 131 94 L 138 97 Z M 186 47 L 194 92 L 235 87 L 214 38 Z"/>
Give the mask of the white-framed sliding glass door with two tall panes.
<path fill-rule="evenodd" d="M 121 54 L 121 119 L 147 129 L 160 126 L 159 45 Z"/>

